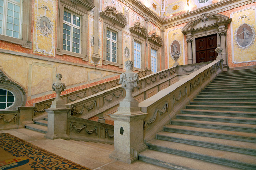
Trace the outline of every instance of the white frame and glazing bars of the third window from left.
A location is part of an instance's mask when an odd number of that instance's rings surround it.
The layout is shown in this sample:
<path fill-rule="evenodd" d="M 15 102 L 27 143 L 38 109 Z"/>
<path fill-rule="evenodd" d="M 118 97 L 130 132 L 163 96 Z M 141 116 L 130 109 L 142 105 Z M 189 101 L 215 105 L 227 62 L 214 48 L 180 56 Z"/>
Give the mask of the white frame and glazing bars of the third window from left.
<path fill-rule="evenodd" d="M 108 37 L 108 32 L 110 32 L 110 38 Z M 113 36 L 115 34 L 115 36 Z M 113 39 L 113 37 L 115 39 Z M 108 41 L 110 41 L 110 48 L 108 48 Z M 113 48 L 113 43 L 115 43 L 115 48 Z M 108 60 L 109 56 L 108 56 L 108 53 L 110 50 L 110 60 Z M 113 53 L 115 52 L 115 54 Z M 113 57 L 113 55 L 115 55 Z M 117 32 L 115 31 L 112 31 L 111 29 L 107 29 L 106 30 L 106 60 L 109 61 L 109 62 L 114 62 L 114 63 L 117 63 Z"/>

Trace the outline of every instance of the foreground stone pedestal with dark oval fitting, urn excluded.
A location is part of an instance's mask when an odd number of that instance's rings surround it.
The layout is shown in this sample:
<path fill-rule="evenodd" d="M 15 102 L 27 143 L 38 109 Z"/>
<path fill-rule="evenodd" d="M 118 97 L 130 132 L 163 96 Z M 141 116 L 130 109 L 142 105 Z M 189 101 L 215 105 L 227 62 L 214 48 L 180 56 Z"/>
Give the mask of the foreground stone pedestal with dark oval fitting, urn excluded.
<path fill-rule="evenodd" d="M 111 115 L 115 122 L 115 150 L 110 158 L 131 164 L 138 160 L 140 152 L 148 148 L 143 141 L 143 119 L 147 113 L 140 111 L 138 102 L 120 102 L 120 105 L 135 107 L 118 107 L 118 111 Z"/>

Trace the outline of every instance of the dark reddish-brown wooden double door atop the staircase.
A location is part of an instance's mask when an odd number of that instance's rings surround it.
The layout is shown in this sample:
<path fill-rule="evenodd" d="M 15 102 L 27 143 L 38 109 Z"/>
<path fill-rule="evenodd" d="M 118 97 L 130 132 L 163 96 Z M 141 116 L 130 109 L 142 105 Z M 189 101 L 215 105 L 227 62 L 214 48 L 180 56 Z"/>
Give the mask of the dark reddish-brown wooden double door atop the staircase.
<path fill-rule="evenodd" d="M 196 62 L 214 61 L 217 57 L 217 34 L 196 38 Z"/>

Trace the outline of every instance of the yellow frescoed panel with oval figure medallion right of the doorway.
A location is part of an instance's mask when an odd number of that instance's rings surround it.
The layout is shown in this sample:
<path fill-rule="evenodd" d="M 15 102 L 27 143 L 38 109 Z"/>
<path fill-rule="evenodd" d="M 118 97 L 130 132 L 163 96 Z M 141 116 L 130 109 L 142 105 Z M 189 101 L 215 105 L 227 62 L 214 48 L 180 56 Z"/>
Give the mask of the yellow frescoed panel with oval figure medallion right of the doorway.
<path fill-rule="evenodd" d="M 232 62 L 234 64 L 256 61 L 255 7 L 245 8 L 230 14 Z"/>

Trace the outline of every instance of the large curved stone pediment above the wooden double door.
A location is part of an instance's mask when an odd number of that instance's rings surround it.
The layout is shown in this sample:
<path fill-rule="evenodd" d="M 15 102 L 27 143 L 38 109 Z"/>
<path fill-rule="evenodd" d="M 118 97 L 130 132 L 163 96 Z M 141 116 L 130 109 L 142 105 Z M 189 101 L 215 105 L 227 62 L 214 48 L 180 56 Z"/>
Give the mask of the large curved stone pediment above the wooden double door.
<path fill-rule="evenodd" d="M 219 24 L 224 24 L 227 26 L 227 24 L 229 24 L 231 21 L 232 19 L 222 14 L 203 13 L 202 15 L 188 22 L 185 27 L 183 27 L 182 33 L 186 34 L 187 32 L 196 32 L 203 29 L 209 29 L 219 26 Z"/>

